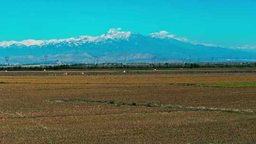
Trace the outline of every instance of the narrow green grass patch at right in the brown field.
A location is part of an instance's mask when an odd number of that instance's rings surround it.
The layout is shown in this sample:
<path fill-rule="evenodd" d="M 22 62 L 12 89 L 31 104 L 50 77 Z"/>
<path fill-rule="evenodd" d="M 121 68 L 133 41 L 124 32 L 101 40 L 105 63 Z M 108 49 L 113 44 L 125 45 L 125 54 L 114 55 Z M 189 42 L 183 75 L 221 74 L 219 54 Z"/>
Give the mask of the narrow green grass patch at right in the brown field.
<path fill-rule="evenodd" d="M 243 88 L 256 87 L 256 83 L 214 83 L 214 84 L 196 84 L 201 87 L 217 87 L 217 88 Z"/>

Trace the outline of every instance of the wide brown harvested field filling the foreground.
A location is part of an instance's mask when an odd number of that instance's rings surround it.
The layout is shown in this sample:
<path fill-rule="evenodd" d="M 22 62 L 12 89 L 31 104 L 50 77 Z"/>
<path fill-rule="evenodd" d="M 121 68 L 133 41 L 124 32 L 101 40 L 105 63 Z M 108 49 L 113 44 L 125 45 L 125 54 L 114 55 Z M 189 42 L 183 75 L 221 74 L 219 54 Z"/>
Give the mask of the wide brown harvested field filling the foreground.
<path fill-rule="evenodd" d="M 1 144 L 255 144 L 256 75 L 1 76 Z"/>

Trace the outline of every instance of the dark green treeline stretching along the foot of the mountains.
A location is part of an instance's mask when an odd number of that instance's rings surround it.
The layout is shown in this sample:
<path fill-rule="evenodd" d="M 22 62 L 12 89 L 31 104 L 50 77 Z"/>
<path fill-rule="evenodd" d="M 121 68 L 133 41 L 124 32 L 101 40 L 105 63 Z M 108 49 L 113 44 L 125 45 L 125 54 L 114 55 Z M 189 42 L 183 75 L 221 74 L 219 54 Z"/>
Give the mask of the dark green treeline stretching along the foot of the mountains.
<path fill-rule="evenodd" d="M 134 63 L 134 64 L 72 64 L 72 65 L 56 65 L 56 66 L 9 66 L 0 67 L 0 71 L 18 71 L 18 70 L 68 70 L 68 69 L 193 69 L 193 68 L 245 68 L 256 67 L 256 63 Z"/>

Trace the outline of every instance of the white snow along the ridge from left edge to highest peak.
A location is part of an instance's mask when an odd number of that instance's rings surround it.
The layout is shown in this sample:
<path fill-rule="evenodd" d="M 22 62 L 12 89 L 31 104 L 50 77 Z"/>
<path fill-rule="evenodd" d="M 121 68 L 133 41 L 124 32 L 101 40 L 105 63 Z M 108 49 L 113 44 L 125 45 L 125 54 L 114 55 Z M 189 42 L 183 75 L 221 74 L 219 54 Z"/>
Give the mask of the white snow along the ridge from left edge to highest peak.
<path fill-rule="evenodd" d="M 8 47 L 10 45 L 26 45 L 26 46 L 32 46 L 32 45 L 56 45 L 59 43 L 68 43 L 68 44 L 74 44 L 74 45 L 82 45 L 84 43 L 90 43 L 90 42 L 101 42 L 108 39 L 112 40 L 118 40 L 118 39 L 126 39 L 132 35 L 132 32 L 124 32 L 120 31 L 121 28 L 112 28 L 110 29 L 106 34 L 101 36 L 79 36 L 79 37 L 72 37 L 67 39 L 51 39 L 51 40 L 34 40 L 34 39 L 28 39 L 23 40 L 20 42 L 17 41 L 3 41 L 0 42 L 0 47 Z"/>

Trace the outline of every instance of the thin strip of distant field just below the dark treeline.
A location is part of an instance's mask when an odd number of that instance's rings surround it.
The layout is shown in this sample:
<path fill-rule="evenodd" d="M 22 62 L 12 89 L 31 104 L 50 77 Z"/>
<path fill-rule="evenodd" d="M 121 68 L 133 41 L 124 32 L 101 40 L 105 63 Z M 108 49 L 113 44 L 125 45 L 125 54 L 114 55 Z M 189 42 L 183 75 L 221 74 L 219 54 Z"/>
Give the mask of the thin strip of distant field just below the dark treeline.
<path fill-rule="evenodd" d="M 197 69 L 95 69 L 59 71 L 0 71 L 0 76 L 64 76 L 64 75 L 234 75 L 256 74 L 255 68 L 197 68 Z"/>

